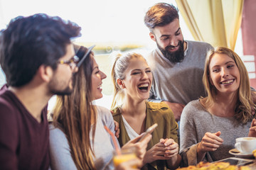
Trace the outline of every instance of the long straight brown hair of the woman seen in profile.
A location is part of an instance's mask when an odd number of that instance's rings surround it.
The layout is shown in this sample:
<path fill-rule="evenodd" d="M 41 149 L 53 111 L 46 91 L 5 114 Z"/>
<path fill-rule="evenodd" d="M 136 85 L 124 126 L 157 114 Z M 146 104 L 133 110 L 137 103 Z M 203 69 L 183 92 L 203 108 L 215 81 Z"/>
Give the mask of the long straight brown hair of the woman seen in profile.
<path fill-rule="evenodd" d="M 90 145 L 95 136 L 96 110 L 92 105 L 91 89 L 92 55 L 87 57 L 74 75 L 73 94 L 58 96 L 53 113 L 53 125 L 68 138 L 70 153 L 77 169 L 95 169 Z M 95 122 L 92 125 L 92 122 Z"/>

